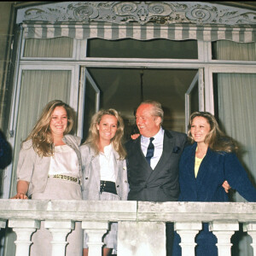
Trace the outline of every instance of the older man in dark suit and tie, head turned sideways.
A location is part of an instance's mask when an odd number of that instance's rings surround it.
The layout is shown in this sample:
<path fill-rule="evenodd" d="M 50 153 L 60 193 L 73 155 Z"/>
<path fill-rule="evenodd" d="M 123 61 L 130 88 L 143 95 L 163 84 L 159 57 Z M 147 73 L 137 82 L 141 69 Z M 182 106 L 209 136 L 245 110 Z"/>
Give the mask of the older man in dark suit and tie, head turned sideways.
<path fill-rule="evenodd" d="M 130 201 L 177 201 L 178 161 L 187 136 L 164 130 L 163 118 L 159 102 L 145 101 L 137 108 L 141 136 L 125 144 Z"/>

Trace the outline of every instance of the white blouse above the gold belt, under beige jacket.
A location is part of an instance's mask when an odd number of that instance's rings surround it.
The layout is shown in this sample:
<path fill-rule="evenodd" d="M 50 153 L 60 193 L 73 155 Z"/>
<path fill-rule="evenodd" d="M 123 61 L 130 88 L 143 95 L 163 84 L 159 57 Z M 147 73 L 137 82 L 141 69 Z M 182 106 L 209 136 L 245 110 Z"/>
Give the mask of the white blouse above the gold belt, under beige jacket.
<path fill-rule="evenodd" d="M 79 159 L 73 148 L 67 145 L 55 146 L 50 157 L 49 175 L 65 174 L 79 177 Z"/>

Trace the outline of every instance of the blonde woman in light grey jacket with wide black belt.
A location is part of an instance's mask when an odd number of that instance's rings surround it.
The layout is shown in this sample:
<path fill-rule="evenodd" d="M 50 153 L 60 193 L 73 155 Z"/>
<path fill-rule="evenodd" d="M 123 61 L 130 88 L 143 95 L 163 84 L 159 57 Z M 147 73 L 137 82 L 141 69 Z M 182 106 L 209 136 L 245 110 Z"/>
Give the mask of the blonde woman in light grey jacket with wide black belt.
<path fill-rule="evenodd" d="M 127 200 L 128 181 L 125 148 L 122 145 L 124 122 L 119 113 L 109 108 L 91 119 L 89 137 L 80 147 L 83 166 L 82 194 L 84 200 Z M 88 255 L 88 236 L 84 232 L 84 256 Z M 104 237 L 103 255 L 115 253 L 117 223 L 110 225 Z"/>

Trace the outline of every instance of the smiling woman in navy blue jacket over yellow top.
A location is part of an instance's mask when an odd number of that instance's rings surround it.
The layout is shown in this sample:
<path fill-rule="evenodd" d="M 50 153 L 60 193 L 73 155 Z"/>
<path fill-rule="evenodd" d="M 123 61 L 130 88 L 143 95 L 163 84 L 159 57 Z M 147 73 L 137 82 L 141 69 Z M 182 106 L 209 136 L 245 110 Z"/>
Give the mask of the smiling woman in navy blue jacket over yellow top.
<path fill-rule="evenodd" d="M 222 184 L 226 180 L 247 201 L 256 201 L 256 189 L 236 157 L 236 143 L 224 135 L 218 122 L 208 112 L 195 112 L 189 118 L 190 145 L 184 148 L 179 162 L 180 195 L 178 201 L 229 201 Z M 181 255 L 175 233 L 173 255 Z M 217 256 L 217 238 L 208 224 L 195 238 L 196 256 Z"/>

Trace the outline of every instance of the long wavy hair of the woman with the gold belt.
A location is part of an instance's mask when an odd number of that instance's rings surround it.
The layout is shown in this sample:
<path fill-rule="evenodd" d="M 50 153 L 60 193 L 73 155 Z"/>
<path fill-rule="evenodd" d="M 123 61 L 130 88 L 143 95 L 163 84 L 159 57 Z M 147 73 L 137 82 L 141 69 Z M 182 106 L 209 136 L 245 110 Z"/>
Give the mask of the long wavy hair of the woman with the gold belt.
<path fill-rule="evenodd" d="M 64 131 L 64 135 L 72 131 L 73 128 L 73 109 L 70 108 L 65 102 L 55 100 L 49 102 L 41 113 L 38 122 L 33 127 L 31 133 L 28 135 L 25 141 L 32 139 L 32 147 L 38 153 L 39 156 L 50 156 L 54 153 L 53 137 L 49 128 L 50 119 L 52 113 L 56 107 L 63 107 L 67 111 L 67 128 Z"/>

